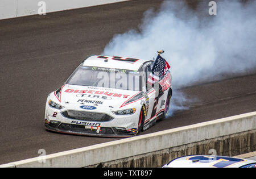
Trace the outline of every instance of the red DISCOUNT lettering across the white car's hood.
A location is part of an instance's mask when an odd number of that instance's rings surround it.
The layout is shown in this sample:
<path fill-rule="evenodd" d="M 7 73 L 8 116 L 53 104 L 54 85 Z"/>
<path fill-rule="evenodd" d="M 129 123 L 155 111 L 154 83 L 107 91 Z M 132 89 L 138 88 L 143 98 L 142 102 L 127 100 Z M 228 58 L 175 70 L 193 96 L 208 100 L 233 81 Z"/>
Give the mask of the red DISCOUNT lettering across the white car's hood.
<path fill-rule="evenodd" d="M 118 97 L 118 98 L 127 98 L 129 95 L 127 94 L 119 94 L 119 93 L 110 93 L 109 91 L 97 91 L 97 90 L 74 90 L 74 89 L 67 89 L 65 90 L 65 93 L 79 93 L 79 94 L 84 94 L 84 93 L 89 93 L 89 94 L 103 94 L 108 97 Z"/>

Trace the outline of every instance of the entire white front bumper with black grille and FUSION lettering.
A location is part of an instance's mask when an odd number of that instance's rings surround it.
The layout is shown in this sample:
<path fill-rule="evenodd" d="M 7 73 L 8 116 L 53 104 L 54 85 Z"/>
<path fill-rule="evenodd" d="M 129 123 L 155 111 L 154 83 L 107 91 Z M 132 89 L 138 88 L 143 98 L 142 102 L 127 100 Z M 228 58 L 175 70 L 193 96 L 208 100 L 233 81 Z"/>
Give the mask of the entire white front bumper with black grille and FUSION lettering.
<path fill-rule="evenodd" d="M 115 138 L 137 134 L 139 110 L 132 115 L 115 115 L 112 111 L 106 111 L 104 106 L 97 106 L 97 110 L 83 110 L 72 103 L 58 110 L 49 106 L 48 102 L 49 97 L 44 115 L 44 126 L 49 131 Z"/>

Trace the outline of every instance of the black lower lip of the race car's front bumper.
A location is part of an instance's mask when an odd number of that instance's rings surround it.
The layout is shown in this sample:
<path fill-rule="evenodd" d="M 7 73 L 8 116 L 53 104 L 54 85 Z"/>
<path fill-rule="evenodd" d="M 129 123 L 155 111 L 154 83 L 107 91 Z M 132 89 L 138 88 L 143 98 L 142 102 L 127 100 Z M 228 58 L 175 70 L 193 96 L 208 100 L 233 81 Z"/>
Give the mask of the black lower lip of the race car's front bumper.
<path fill-rule="evenodd" d="M 110 138 L 129 138 L 137 134 L 137 131 L 118 129 L 115 127 L 101 126 L 83 126 L 79 124 L 69 124 L 63 122 L 48 122 L 44 124 L 49 131 L 61 132 L 64 134 L 86 135 L 86 136 L 101 136 Z"/>

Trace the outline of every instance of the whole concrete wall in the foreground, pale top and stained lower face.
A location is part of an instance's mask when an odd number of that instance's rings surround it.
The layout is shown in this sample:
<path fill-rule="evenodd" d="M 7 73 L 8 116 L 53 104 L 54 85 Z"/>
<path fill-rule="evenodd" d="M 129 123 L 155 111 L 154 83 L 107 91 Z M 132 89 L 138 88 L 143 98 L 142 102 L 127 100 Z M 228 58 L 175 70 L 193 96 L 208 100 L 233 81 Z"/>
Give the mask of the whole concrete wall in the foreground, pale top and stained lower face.
<path fill-rule="evenodd" d="M 2 167 L 162 166 L 175 157 L 255 151 L 256 112 L 16 161 Z"/>

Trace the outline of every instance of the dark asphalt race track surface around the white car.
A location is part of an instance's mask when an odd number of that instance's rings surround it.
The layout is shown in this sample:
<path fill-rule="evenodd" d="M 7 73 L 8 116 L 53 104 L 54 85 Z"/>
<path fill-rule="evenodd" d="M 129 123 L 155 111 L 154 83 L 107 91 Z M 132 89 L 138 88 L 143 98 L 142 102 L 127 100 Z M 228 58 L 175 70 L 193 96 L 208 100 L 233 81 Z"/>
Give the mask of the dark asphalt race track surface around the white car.
<path fill-rule="evenodd" d="M 0 20 L 0 164 L 37 157 L 39 149 L 48 155 L 118 140 L 46 131 L 46 98 L 84 57 L 100 54 L 114 34 L 137 28 L 143 12 L 161 2 L 129 1 Z M 255 81 L 256 70 L 180 89 L 193 99 L 189 109 L 141 134 L 255 111 Z"/>

